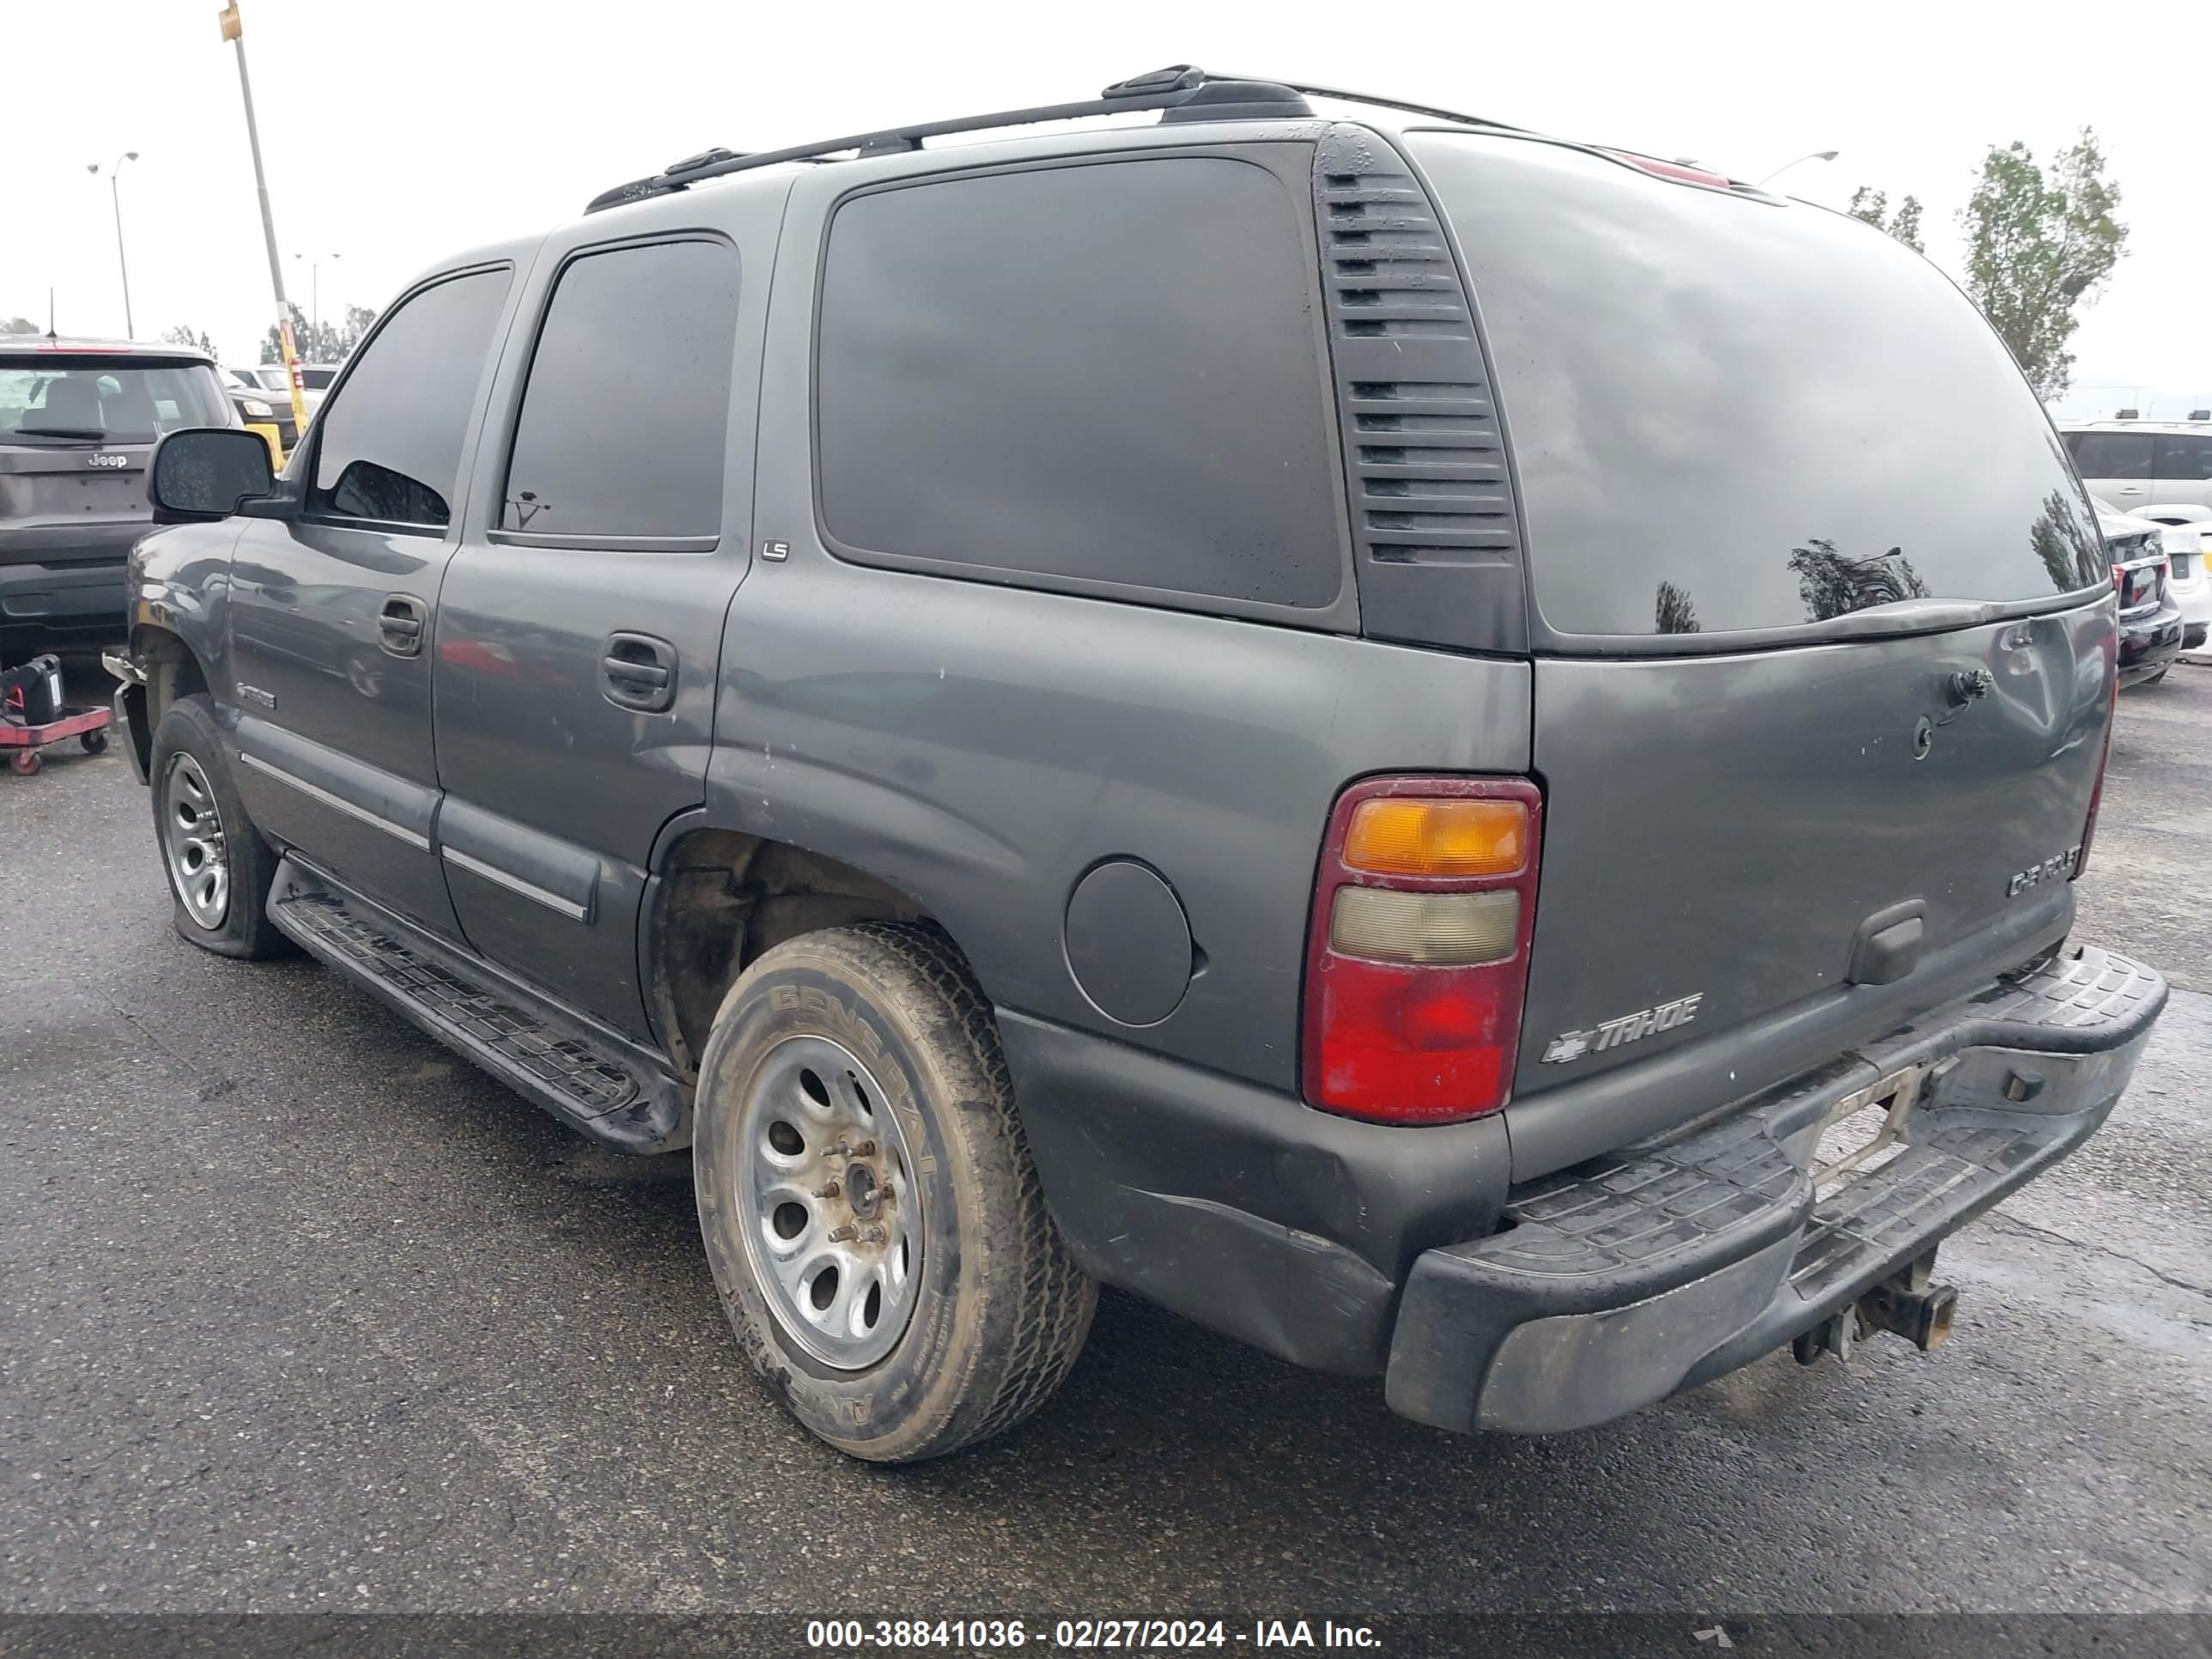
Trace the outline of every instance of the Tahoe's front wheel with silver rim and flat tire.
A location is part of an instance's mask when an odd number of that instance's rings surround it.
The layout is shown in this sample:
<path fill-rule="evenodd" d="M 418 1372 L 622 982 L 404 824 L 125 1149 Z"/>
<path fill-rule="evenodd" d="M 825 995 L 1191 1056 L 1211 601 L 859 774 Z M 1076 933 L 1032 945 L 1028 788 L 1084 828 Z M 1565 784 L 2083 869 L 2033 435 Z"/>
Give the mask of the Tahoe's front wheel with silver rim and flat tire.
<path fill-rule="evenodd" d="M 276 854 L 230 781 L 215 706 L 179 697 L 153 734 L 153 827 L 177 931 L 217 956 L 283 956 L 268 918 Z"/>

